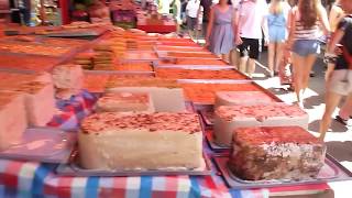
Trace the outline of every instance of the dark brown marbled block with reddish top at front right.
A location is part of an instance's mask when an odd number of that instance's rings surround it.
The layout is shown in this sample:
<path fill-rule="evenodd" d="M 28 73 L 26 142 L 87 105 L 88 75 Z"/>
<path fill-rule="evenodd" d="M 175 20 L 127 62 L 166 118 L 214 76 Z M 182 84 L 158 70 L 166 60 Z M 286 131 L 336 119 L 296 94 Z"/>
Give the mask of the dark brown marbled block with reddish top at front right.
<path fill-rule="evenodd" d="M 229 168 L 245 180 L 316 178 L 326 146 L 299 127 L 240 128 L 233 133 Z"/>

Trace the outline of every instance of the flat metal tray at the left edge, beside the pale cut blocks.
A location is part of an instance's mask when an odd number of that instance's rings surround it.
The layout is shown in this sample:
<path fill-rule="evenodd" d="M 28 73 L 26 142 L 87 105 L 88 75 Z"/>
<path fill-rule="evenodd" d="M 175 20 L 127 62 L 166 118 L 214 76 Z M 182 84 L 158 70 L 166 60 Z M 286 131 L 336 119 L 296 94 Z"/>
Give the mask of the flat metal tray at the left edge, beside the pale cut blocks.
<path fill-rule="evenodd" d="M 26 129 L 22 140 L 0 152 L 0 158 L 67 163 L 76 145 L 77 135 L 56 128 Z"/>

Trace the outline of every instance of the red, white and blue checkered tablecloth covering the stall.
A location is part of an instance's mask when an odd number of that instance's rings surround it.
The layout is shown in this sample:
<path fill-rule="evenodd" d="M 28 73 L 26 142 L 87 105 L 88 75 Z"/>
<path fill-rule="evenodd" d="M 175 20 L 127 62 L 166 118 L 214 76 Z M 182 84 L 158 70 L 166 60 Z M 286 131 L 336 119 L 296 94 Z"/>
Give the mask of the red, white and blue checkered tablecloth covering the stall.
<path fill-rule="evenodd" d="M 87 91 L 61 101 L 64 111 L 51 127 L 75 129 L 91 112 L 96 97 Z M 68 122 L 68 123 L 67 123 Z M 210 150 L 207 150 L 210 152 Z M 213 166 L 213 165 L 212 165 Z M 0 160 L 0 197 L 268 197 L 270 193 L 324 190 L 327 184 L 270 189 L 229 189 L 212 167 L 210 176 L 68 177 L 55 164 Z"/>

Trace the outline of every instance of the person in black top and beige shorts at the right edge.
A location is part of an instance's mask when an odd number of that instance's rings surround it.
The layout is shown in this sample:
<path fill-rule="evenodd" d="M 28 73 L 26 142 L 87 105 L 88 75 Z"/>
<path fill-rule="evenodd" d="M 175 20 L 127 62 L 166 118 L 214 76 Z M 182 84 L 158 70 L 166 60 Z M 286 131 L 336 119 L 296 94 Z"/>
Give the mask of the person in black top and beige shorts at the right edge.
<path fill-rule="evenodd" d="M 327 70 L 326 111 L 320 123 L 320 139 L 323 140 L 331 123 L 331 116 L 343 96 L 346 102 L 352 100 L 352 3 L 350 0 L 340 1 L 345 16 L 338 24 L 336 34 L 328 45 L 326 57 L 330 64 Z M 340 47 L 342 53 L 333 55 Z M 334 57 L 331 58 L 331 57 Z"/>

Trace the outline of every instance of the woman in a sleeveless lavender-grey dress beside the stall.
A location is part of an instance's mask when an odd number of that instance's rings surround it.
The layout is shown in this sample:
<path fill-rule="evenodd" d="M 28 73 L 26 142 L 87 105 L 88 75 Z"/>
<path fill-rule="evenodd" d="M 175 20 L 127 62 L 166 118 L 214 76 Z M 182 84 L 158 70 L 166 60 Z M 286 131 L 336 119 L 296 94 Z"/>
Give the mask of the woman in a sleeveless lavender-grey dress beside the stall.
<path fill-rule="evenodd" d="M 227 63 L 229 63 L 230 51 L 234 48 L 237 21 L 237 11 L 228 0 L 220 0 L 210 10 L 206 46 Z"/>

